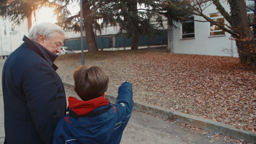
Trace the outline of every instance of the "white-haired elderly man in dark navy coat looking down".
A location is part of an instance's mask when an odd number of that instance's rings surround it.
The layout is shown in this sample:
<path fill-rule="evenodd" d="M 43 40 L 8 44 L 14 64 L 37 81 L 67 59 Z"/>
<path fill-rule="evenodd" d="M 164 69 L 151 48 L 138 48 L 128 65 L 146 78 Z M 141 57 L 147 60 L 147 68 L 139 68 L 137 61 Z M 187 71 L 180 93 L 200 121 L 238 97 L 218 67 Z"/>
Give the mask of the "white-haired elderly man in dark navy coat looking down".
<path fill-rule="evenodd" d="M 66 114 L 63 83 L 53 61 L 65 32 L 43 22 L 9 55 L 3 69 L 5 143 L 53 143 L 58 121 Z"/>

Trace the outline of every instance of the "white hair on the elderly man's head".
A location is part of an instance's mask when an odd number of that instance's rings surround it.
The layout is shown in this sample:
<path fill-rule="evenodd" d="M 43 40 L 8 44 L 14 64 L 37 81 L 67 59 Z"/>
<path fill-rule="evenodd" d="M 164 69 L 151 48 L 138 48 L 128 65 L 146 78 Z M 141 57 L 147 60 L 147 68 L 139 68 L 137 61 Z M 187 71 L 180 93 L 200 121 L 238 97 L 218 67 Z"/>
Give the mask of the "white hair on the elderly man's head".
<path fill-rule="evenodd" d="M 50 22 L 41 22 L 30 28 L 29 38 L 32 41 L 38 41 L 38 36 L 42 34 L 46 40 L 51 40 L 55 32 L 62 34 L 64 38 L 66 37 L 64 30 L 56 24 Z"/>

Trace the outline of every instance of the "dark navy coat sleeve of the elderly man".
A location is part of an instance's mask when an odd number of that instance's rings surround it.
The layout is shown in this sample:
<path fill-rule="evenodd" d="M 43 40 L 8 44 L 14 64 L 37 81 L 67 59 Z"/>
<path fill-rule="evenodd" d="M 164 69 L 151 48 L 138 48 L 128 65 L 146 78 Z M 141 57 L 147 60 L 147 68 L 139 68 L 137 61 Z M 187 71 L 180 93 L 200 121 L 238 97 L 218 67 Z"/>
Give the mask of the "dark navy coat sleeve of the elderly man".
<path fill-rule="evenodd" d="M 49 64 L 38 62 L 23 74 L 22 87 L 36 128 L 45 141 L 53 143 L 53 134 L 62 115 L 58 106 L 58 81 Z M 64 113 L 63 113 L 64 114 Z"/>

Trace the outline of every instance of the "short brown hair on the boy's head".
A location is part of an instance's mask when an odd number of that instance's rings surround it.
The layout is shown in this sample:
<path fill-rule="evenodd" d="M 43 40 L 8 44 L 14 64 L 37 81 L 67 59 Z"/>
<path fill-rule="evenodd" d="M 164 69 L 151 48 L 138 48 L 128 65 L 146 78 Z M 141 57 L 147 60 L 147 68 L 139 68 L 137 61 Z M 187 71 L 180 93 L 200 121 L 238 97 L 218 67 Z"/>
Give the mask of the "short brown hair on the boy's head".
<path fill-rule="evenodd" d="M 77 95 L 84 101 L 100 97 L 108 87 L 107 72 L 98 66 L 80 66 L 74 72 L 74 81 Z"/>

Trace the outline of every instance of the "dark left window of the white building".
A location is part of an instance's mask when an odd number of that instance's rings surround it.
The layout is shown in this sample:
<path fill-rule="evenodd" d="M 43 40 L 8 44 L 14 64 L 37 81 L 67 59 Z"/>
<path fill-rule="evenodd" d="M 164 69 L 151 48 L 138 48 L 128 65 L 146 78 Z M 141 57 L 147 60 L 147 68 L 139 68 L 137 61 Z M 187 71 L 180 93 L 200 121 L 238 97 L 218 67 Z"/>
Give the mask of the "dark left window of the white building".
<path fill-rule="evenodd" d="M 194 20 L 194 17 L 188 18 Z M 182 39 L 194 38 L 195 37 L 195 25 L 194 21 L 185 21 L 182 23 Z"/>

